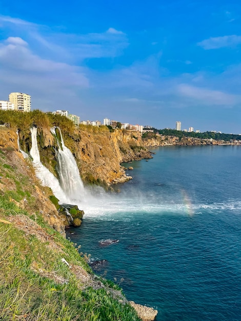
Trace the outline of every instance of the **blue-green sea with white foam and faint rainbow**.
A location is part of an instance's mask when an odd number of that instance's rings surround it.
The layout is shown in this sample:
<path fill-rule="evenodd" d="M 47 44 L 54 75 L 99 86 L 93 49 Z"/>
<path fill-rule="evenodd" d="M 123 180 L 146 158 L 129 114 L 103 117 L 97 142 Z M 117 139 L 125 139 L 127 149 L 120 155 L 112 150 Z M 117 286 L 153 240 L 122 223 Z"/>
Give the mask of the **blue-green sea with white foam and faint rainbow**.
<path fill-rule="evenodd" d="M 241 146 L 151 151 L 67 236 L 157 320 L 241 320 Z"/>

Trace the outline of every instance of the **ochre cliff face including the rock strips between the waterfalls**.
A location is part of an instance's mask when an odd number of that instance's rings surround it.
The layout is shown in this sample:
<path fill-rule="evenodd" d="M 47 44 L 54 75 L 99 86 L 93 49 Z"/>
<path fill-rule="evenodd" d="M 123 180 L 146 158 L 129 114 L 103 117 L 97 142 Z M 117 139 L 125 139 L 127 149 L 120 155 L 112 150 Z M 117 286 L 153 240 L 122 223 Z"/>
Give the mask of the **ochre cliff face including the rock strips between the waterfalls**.
<path fill-rule="evenodd" d="M 65 145 L 75 156 L 84 183 L 104 186 L 124 183 L 131 177 L 120 165 L 122 162 L 152 157 L 138 132 L 115 130 L 111 133 L 107 128 L 76 128 L 71 133 L 63 133 L 63 136 Z M 20 133 L 19 137 L 21 148 L 28 152 L 31 148 L 30 132 L 24 136 Z M 57 176 L 55 138 L 50 130 L 38 129 L 37 140 L 42 163 Z"/>

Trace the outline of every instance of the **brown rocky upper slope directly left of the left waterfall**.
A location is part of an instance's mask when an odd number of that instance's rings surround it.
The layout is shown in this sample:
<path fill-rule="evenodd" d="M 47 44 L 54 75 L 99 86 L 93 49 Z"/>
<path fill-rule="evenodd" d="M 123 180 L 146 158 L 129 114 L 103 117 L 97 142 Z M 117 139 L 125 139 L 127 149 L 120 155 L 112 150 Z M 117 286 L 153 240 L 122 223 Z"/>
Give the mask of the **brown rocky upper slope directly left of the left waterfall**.
<path fill-rule="evenodd" d="M 64 216 L 50 202 L 48 196 L 52 192 L 39 184 L 31 162 L 18 152 L 13 130 L 0 129 L 0 151 L 0 194 L 32 215 L 37 212 L 55 230 L 65 234 Z"/>

